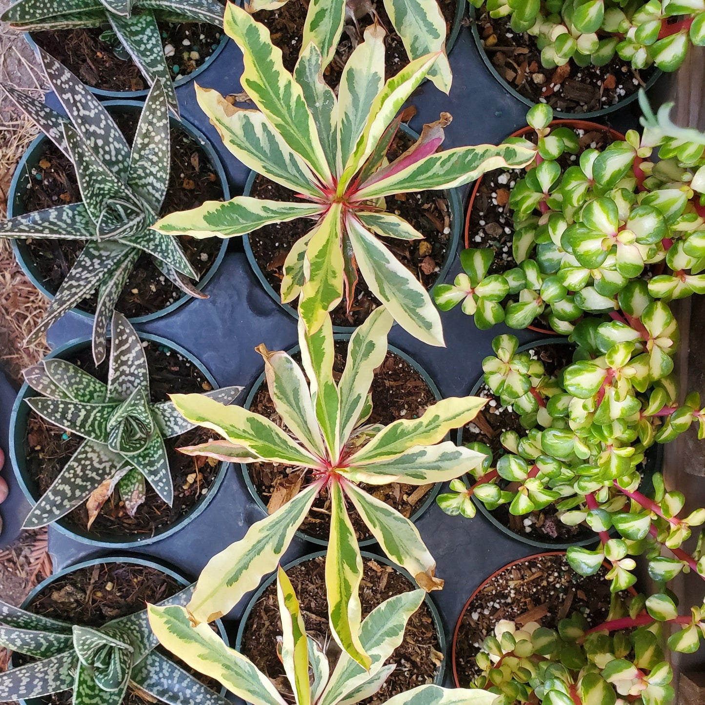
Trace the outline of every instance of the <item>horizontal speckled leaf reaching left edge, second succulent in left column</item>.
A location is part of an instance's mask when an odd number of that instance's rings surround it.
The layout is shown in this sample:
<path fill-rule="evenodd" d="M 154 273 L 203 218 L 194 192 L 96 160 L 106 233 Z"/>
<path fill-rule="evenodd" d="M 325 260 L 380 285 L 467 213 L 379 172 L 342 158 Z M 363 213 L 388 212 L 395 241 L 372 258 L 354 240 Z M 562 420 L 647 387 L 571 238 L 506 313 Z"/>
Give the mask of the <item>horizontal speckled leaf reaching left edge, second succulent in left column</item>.
<path fill-rule="evenodd" d="M 0 238 L 94 240 L 95 223 L 82 203 L 15 216 L 0 223 Z"/>

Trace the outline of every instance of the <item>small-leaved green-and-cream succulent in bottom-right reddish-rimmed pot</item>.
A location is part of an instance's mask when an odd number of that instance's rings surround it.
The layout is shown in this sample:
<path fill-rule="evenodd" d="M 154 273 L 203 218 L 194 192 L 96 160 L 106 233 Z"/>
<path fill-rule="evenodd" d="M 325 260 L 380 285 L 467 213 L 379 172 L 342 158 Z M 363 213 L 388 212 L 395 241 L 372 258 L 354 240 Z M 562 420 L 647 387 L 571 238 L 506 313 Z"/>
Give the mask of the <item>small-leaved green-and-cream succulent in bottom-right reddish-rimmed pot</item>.
<path fill-rule="evenodd" d="M 593 626 L 578 611 L 556 630 L 500 620 L 477 655 L 474 685 L 498 694 L 494 705 L 669 705 L 665 637 L 674 651 L 695 651 L 702 624 L 699 608 L 680 616 L 666 594 L 613 595 L 606 621 Z"/>

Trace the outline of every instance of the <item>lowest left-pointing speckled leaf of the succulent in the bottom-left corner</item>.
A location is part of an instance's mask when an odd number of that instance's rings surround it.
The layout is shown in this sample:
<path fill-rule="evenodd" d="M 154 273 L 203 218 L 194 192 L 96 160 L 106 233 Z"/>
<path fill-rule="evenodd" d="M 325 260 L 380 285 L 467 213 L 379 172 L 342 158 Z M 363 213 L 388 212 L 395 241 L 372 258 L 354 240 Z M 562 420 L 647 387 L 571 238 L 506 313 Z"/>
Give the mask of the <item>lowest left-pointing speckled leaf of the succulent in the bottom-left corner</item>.
<path fill-rule="evenodd" d="M 0 673 L 0 701 L 42 697 L 73 687 L 78 657 L 70 651 Z"/>

